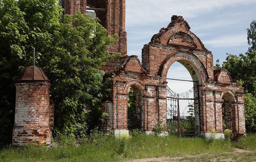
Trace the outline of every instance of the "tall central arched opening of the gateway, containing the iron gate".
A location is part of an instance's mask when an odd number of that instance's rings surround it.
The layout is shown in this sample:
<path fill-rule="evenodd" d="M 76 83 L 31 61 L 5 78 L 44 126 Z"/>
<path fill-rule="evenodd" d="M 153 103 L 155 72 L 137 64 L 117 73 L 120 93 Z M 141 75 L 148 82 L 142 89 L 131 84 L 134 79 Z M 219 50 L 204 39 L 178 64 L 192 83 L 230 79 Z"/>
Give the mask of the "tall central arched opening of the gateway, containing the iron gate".
<path fill-rule="evenodd" d="M 190 61 L 178 59 L 171 62 L 166 75 L 167 130 L 170 134 L 187 137 L 200 135 L 201 78 L 197 67 Z"/>

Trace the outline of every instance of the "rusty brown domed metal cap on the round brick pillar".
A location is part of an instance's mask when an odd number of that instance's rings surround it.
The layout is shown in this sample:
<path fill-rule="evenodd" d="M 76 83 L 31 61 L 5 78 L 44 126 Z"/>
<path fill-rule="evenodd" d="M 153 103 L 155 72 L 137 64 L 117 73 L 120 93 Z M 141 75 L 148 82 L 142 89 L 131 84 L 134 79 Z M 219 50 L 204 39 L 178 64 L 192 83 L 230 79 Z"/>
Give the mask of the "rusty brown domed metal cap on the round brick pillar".
<path fill-rule="evenodd" d="M 50 82 L 45 72 L 40 67 L 29 66 L 19 76 L 16 83 L 44 83 Z"/>

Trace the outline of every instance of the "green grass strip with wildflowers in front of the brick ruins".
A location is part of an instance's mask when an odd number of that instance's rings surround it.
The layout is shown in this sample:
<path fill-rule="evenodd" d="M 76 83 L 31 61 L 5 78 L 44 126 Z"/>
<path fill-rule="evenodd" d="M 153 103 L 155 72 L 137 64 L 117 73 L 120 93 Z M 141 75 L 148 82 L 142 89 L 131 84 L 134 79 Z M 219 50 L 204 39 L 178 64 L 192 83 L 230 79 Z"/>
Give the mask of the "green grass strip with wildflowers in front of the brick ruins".
<path fill-rule="evenodd" d="M 248 134 L 235 142 L 204 140 L 201 138 L 159 137 L 140 134 L 115 138 L 95 133 L 89 139 L 76 141 L 73 138 L 55 139 L 51 147 L 33 144 L 0 151 L 1 162 L 107 162 L 126 161 L 148 157 L 184 156 L 185 161 L 208 161 L 215 156 L 226 156 L 235 148 L 249 150 L 248 153 L 234 154 L 237 161 L 256 160 L 256 134 Z M 197 157 L 201 154 L 202 156 Z M 191 155 L 191 156 L 187 156 Z M 193 160 L 194 158 L 194 160 Z M 200 160 L 201 159 L 201 160 Z M 179 160 L 181 161 L 181 160 Z"/>

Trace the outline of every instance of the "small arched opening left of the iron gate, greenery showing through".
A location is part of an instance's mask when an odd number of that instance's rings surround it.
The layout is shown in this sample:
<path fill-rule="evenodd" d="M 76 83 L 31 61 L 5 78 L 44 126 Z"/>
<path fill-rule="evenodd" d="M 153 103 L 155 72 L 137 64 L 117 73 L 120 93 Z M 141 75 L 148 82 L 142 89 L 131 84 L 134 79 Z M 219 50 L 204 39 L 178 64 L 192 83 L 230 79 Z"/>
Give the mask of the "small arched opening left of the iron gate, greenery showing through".
<path fill-rule="evenodd" d="M 132 85 L 128 92 L 127 127 L 128 130 L 143 131 L 144 124 L 144 96 L 141 87 Z"/>

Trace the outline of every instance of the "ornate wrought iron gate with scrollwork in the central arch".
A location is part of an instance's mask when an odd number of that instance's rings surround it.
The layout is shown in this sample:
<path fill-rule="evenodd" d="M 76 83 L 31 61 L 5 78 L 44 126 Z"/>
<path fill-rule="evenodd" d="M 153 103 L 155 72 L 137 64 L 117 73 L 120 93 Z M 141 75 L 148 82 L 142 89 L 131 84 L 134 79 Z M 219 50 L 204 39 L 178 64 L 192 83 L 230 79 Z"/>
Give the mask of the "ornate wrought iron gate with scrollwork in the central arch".
<path fill-rule="evenodd" d="M 169 79 L 169 78 L 167 78 Z M 193 87 L 187 92 L 175 93 L 167 86 L 167 129 L 174 136 L 193 137 L 200 133 L 200 103 L 199 87 L 197 81 L 179 80 L 193 82 Z M 180 107 L 181 101 L 188 101 L 186 107 Z M 182 110 L 182 111 L 180 111 Z"/>

